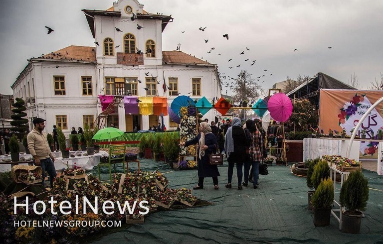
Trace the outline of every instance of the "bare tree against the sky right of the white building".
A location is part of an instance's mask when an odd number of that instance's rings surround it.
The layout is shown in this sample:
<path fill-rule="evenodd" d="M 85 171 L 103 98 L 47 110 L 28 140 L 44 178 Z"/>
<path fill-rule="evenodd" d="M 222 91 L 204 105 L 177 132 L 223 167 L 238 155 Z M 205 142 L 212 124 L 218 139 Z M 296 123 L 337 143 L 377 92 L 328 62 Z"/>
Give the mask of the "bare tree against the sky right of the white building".
<path fill-rule="evenodd" d="M 253 79 L 246 70 L 241 70 L 230 89 L 234 92 L 234 101 L 237 102 L 255 102 L 264 92 L 256 79 Z"/>

